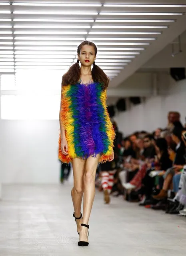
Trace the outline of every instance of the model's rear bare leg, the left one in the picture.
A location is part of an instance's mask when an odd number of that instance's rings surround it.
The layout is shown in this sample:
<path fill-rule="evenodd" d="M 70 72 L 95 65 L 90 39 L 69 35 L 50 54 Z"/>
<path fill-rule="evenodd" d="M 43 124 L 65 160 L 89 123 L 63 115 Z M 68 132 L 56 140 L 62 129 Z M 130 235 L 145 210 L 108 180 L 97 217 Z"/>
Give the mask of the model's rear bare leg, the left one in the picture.
<path fill-rule="evenodd" d="M 74 176 L 74 187 L 71 191 L 72 202 L 74 206 L 74 215 L 76 218 L 81 216 L 81 204 L 82 197 L 84 192 L 84 184 L 83 184 L 83 173 L 84 173 L 84 165 L 86 160 L 82 160 L 78 157 L 72 160 L 72 168 L 73 168 L 73 176 Z M 80 232 L 80 226 L 82 224 L 82 218 L 80 220 L 76 220 L 77 230 Z"/>

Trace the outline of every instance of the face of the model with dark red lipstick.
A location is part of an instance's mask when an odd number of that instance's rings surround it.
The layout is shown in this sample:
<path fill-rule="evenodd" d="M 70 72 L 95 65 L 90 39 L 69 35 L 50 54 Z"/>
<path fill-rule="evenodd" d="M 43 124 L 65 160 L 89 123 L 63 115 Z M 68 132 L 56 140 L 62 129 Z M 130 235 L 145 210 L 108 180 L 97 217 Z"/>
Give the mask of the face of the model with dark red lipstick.
<path fill-rule="evenodd" d="M 96 59 L 94 47 L 88 44 L 82 46 L 78 59 L 80 60 L 81 65 L 84 67 L 91 66 Z"/>

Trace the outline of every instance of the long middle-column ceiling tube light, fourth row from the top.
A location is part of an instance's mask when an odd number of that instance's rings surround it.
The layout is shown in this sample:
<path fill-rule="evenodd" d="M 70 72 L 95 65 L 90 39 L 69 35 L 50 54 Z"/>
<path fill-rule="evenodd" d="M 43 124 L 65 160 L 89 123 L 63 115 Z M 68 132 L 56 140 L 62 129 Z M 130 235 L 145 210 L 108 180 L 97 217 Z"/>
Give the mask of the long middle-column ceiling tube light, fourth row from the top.
<path fill-rule="evenodd" d="M 0 26 L 1 27 L 1 26 Z M 2 26 L 5 27 L 5 26 Z M 7 26 L 8 27 L 8 26 Z M 11 26 L 9 26 L 11 27 Z M 56 26 L 44 26 L 44 25 L 15 25 L 14 28 L 90 28 L 90 26 L 76 26 L 76 25 L 56 25 Z"/>

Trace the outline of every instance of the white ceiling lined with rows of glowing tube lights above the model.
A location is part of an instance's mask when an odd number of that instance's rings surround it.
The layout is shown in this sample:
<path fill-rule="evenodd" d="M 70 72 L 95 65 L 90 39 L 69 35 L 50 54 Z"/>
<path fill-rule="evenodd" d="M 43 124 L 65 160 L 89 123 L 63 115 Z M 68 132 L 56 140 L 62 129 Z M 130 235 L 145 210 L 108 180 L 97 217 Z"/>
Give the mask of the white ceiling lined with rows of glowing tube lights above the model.
<path fill-rule="evenodd" d="M 56 69 L 77 59 L 77 46 L 91 40 L 97 64 L 118 85 L 126 69 L 179 24 L 185 1 L 2 0 L 0 70 Z M 136 65 L 137 67 L 137 65 Z M 3 70 L 3 71 L 2 71 Z M 118 79 L 118 80 L 117 80 Z M 115 81 L 115 82 L 114 82 Z"/>

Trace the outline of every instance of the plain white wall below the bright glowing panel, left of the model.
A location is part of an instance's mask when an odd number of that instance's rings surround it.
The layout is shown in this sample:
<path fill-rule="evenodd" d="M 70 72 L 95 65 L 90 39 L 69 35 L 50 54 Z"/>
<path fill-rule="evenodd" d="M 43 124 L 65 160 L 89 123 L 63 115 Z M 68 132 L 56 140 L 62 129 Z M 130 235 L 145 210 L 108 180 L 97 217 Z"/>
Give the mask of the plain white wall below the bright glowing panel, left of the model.
<path fill-rule="evenodd" d="M 2 120 L 3 183 L 58 183 L 58 120 Z"/>

